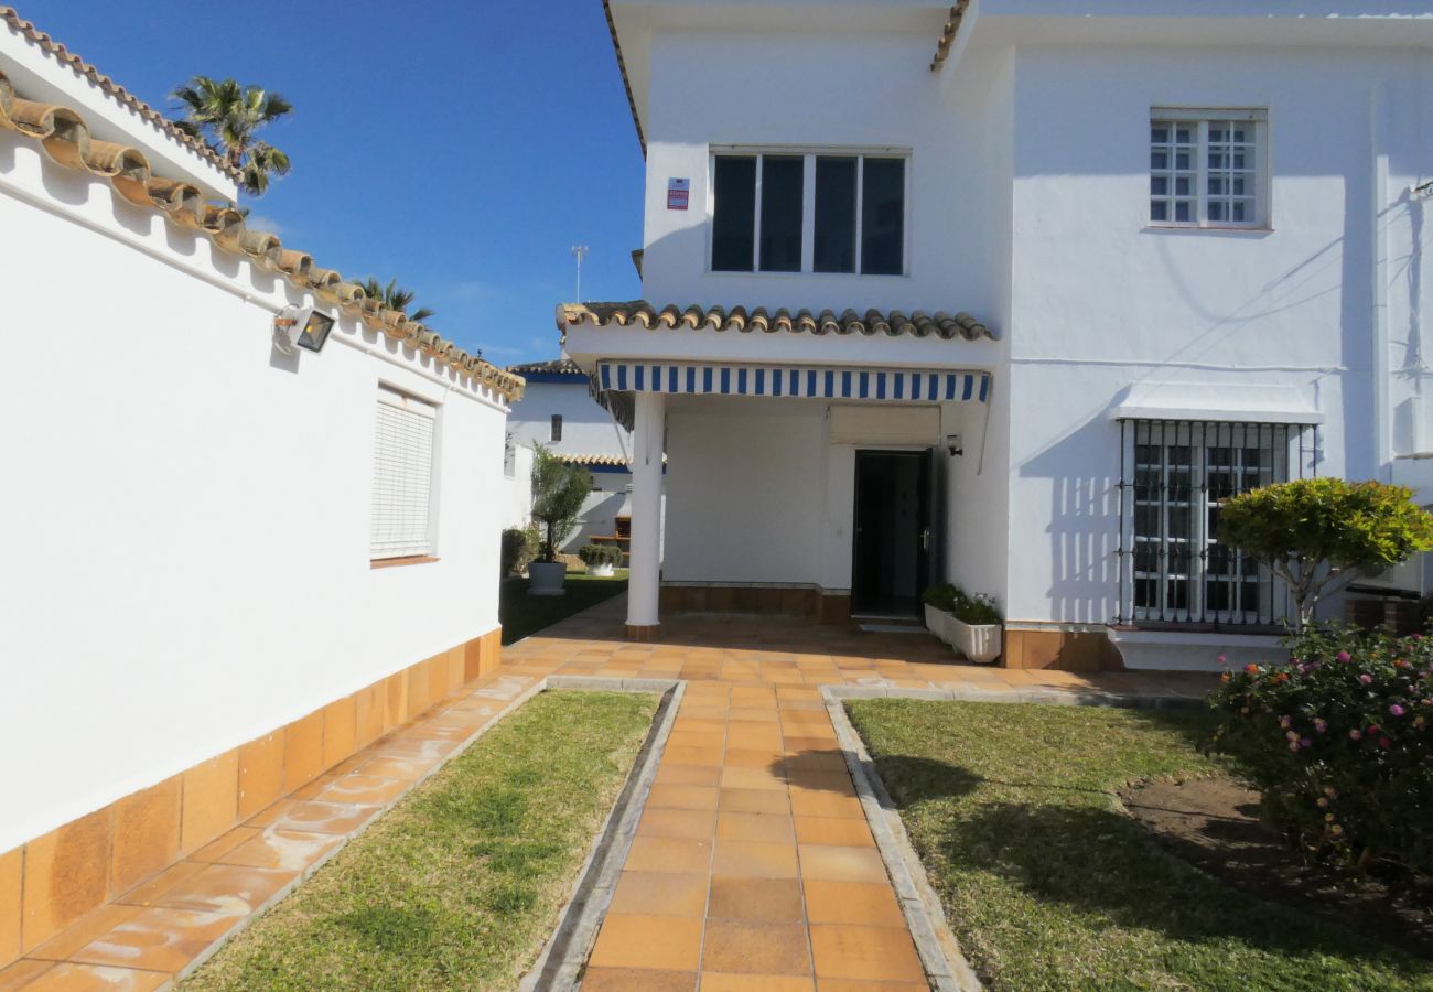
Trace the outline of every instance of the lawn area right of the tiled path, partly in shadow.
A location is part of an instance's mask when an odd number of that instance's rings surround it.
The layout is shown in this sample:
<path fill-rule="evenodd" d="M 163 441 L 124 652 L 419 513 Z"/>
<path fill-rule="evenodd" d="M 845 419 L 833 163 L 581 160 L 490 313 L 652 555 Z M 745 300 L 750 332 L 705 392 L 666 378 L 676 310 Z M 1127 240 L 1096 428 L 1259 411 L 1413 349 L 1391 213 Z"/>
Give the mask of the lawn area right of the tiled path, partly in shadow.
<path fill-rule="evenodd" d="M 1433 989 L 1433 965 L 1244 896 L 1156 847 L 1115 790 L 1219 766 L 1202 712 L 863 700 L 866 740 L 995 989 Z"/>

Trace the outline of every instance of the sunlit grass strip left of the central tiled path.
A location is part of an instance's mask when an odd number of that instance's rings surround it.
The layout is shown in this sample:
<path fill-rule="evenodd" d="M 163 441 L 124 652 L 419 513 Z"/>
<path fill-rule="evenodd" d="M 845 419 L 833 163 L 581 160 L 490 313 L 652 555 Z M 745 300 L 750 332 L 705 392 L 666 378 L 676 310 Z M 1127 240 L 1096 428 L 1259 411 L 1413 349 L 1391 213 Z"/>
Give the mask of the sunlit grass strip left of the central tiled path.
<path fill-rule="evenodd" d="M 224 948 L 186 989 L 512 989 L 656 711 L 543 692 Z"/>

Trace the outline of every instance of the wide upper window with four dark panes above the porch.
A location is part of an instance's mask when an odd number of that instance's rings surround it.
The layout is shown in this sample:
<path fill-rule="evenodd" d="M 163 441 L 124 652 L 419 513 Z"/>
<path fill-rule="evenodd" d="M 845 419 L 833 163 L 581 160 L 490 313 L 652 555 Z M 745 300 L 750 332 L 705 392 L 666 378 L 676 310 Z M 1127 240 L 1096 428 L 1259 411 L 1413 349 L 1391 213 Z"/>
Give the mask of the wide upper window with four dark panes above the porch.
<path fill-rule="evenodd" d="M 906 271 L 906 156 L 712 156 L 714 272 Z"/>

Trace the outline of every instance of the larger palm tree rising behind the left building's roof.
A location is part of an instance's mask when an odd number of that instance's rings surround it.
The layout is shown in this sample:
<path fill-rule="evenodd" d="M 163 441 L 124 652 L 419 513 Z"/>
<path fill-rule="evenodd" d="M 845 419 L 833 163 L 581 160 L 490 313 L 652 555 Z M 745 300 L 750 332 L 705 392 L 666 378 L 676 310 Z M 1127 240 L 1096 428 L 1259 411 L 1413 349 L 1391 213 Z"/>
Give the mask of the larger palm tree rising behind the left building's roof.
<path fill-rule="evenodd" d="M 179 100 L 185 132 L 206 140 L 239 172 L 239 186 L 255 196 L 268 189 L 269 175 L 288 175 L 288 155 L 255 135 L 294 112 L 278 93 L 258 86 L 239 86 L 232 79 L 195 76 L 171 96 Z"/>

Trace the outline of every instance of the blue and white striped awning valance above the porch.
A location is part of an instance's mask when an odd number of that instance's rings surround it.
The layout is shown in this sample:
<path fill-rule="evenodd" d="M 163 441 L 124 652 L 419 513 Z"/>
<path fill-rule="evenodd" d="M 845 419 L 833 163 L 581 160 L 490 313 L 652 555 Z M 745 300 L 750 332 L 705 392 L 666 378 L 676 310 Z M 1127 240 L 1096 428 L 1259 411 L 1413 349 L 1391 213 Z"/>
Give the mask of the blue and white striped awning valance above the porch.
<path fill-rule="evenodd" d="M 599 361 L 596 387 L 609 393 L 790 396 L 817 400 L 984 403 L 990 373 Z"/>

